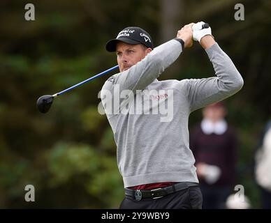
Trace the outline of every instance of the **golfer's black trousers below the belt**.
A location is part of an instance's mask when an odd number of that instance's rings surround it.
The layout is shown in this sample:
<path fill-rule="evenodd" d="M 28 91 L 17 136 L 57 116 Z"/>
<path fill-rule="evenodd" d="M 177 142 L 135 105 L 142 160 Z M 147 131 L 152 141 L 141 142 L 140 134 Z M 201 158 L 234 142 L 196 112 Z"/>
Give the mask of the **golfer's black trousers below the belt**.
<path fill-rule="evenodd" d="M 158 199 L 142 199 L 137 201 L 126 196 L 120 209 L 201 209 L 203 196 L 200 187 L 189 187 Z"/>

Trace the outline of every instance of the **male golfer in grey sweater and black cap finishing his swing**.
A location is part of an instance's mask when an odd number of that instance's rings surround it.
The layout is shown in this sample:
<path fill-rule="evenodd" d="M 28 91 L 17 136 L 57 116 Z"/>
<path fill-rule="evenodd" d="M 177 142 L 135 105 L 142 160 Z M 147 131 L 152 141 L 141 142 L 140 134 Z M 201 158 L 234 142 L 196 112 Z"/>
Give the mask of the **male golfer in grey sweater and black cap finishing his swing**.
<path fill-rule="evenodd" d="M 189 114 L 243 86 L 233 62 L 203 24 L 187 24 L 177 31 L 177 38 L 156 48 L 149 33 L 139 27 L 125 28 L 106 44 L 109 52 L 116 52 L 120 70 L 101 91 L 125 187 L 120 208 L 202 208 L 189 148 Z M 215 76 L 158 81 L 193 40 L 205 49 Z M 158 107 L 167 107 L 173 118 L 163 120 L 164 113 L 155 112 Z"/>

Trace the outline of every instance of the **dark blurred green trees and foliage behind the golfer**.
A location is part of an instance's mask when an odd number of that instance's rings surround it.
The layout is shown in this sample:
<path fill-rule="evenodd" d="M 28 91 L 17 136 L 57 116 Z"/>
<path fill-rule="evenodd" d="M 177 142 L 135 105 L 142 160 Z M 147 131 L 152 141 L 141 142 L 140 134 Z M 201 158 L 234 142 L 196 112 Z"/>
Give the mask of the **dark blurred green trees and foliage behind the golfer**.
<path fill-rule="evenodd" d="M 160 45 L 201 20 L 244 77 L 242 91 L 226 105 L 240 139 L 237 183 L 259 206 L 252 167 L 271 114 L 270 1 L 31 1 L 34 22 L 24 20 L 26 3 L 0 2 L 0 208 L 117 208 L 123 185 L 116 146 L 97 111 L 108 76 L 61 95 L 47 114 L 37 111 L 36 100 L 115 66 L 104 46 L 125 26 L 141 26 Z M 244 4 L 244 21 L 234 19 L 235 3 Z M 160 79 L 212 75 L 195 43 Z M 194 112 L 190 127 L 200 118 Z M 33 203 L 24 201 L 27 184 L 36 189 Z"/>

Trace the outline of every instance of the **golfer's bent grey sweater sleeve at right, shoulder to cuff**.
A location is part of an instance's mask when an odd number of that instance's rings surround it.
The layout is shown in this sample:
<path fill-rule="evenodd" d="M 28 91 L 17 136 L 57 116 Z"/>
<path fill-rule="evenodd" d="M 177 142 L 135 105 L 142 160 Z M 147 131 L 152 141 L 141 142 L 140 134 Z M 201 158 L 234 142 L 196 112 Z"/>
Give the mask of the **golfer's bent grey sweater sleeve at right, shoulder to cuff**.
<path fill-rule="evenodd" d="M 240 91 L 244 84 L 240 72 L 217 43 L 205 49 L 217 77 L 186 80 L 191 112 L 224 100 Z"/>

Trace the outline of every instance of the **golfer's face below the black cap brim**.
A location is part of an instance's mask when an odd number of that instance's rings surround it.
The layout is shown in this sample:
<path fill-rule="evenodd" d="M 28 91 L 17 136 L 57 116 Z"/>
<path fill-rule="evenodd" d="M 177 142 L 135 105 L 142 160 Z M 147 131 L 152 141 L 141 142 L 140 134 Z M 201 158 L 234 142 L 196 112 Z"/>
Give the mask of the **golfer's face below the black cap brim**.
<path fill-rule="evenodd" d="M 152 49 L 145 48 L 140 44 L 130 45 L 123 42 L 117 43 L 117 63 L 119 65 L 120 72 L 131 68 L 131 66 L 144 59 L 151 51 Z"/>

